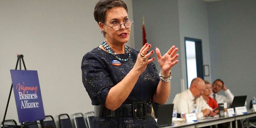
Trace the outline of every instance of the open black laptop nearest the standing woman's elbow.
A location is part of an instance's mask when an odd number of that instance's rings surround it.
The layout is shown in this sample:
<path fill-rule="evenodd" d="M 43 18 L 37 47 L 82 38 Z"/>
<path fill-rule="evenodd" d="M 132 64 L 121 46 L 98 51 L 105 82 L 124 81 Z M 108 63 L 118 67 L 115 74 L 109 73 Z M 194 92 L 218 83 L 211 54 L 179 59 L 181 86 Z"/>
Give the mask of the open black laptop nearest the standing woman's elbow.
<path fill-rule="evenodd" d="M 158 105 L 157 123 L 160 127 L 172 125 L 173 104 Z"/>

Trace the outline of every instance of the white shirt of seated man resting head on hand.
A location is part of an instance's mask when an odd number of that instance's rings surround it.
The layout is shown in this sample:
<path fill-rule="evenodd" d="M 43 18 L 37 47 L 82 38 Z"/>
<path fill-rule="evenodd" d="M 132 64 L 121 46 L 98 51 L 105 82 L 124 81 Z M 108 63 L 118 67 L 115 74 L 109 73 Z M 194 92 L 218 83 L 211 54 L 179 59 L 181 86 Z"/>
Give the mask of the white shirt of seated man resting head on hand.
<path fill-rule="evenodd" d="M 232 104 L 233 99 L 234 99 L 234 95 L 230 92 L 229 89 L 227 89 L 226 91 L 224 91 L 224 93 L 225 93 L 226 96 L 215 94 L 216 102 L 217 102 L 218 104 L 224 103 L 224 102 L 227 102 L 228 104 Z M 214 94 L 214 93 L 212 92 L 212 94 L 210 95 L 210 97 L 214 98 L 213 94 Z"/>

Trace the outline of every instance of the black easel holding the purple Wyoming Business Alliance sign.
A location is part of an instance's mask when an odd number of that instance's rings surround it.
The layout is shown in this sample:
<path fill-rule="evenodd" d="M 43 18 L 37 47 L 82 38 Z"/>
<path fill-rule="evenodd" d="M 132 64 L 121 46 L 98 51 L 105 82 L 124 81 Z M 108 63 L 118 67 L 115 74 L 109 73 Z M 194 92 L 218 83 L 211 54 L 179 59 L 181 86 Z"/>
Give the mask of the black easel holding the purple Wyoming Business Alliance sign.
<path fill-rule="evenodd" d="M 15 70 L 17 70 L 17 68 L 18 68 L 18 63 L 19 63 L 20 70 L 21 70 L 21 61 L 23 63 L 24 69 L 27 70 L 23 57 L 24 57 L 23 55 L 17 54 L 17 62 L 16 62 Z M 1 128 L 4 128 L 4 121 L 5 121 L 5 118 L 6 118 L 6 113 L 7 113 L 7 109 L 8 109 L 8 106 L 9 106 L 10 97 L 11 97 L 11 94 L 12 94 L 12 87 L 13 87 L 13 85 L 11 85 L 11 88 L 10 88 L 9 97 L 8 97 L 8 100 L 7 100 L 7 105 L 6 105 L 6 108 L 5 108 L 4 118 L 3 118 L 3 121 L 2 121 L 2 124 L 1 124 Z M 41 123 L 42 128 L 44 128 L 43 120 L 40 120 L 40 123 Z M 24 124 L 26 124 L 26 122 L 21 123 L 20 128 L 23 128 Z"/>

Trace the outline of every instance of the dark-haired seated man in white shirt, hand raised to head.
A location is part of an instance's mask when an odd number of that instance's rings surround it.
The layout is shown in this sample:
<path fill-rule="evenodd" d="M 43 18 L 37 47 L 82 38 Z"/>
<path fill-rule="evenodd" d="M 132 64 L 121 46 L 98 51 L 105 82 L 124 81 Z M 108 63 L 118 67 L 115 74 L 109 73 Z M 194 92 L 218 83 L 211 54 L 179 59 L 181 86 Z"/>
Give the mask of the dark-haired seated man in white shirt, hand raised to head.
<path fill-rule="evenodd" d="M 223 90 L 226 96 L 218 95 L 217 93 L 220 92 L 220 90 Z M 229 89 L 226 88 L 224 82 L 220 79 L 217 79 L 212 83 L 212 94 L 210 95 L 210 97 L 216 100 L 218 104 L 224 102 L 232 104 L 234 99 L 234 95 L 230 92 Z"/>

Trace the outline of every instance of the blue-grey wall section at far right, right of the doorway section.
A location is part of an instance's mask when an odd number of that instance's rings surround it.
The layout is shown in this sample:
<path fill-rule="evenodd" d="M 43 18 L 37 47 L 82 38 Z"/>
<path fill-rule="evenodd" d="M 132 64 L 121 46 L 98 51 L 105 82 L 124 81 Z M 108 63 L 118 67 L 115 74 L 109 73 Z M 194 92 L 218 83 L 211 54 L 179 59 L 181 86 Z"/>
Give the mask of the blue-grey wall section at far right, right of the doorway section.
<path fill-rule="evenodd" d="M 209 3 L 208 21 L 212 80 L 221 78 L 234 95 L 247 95 L 249 106 L 256 96 L 256 0 Z"/>

